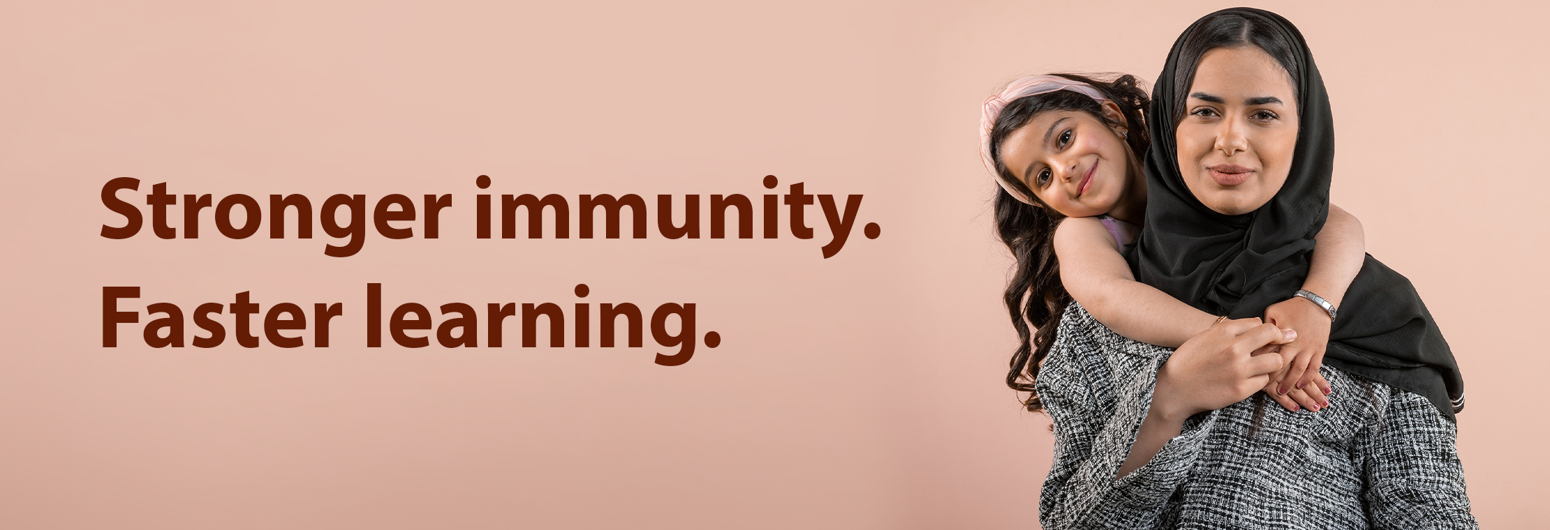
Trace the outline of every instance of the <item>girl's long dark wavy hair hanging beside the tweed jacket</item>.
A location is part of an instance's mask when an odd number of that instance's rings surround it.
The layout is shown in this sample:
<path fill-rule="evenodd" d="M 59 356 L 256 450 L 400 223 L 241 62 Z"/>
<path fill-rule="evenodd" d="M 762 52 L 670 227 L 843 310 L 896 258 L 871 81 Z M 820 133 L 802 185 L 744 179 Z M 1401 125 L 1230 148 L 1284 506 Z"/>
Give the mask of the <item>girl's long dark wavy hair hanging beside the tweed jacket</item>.
<path fill-rule="evenodd" d="M 1135 152 L 1136 160 L 1145 157 L 1149 141 L 1144 116 L 1150 99 L 1141 87 L 1139 79 L 1130 74 L 1110 76 L 1111 81 L 1080 74 L 1057 76 L 1090 84 L 1118 104 L 1121 115 L 1125 118 L 1125 143 Z M 1034 116 L 1056 110 L 1087 112 L 1099 121 L 1114 124 L 1113 119 L 1104 116 L 1104 110 L 1097 101 L 1068 90 L 1018 98 L 1008 104 L 990 129 L 990 160 L 995 161 L 995 172 L 1001 180 L 1011 183 L 1011 186 L 1021 186 L 1020 191 L 1028 197 L 1035 195 L 1021 181 L 1014 178 L 1012 172 L 1001 163 L 1001 141 L 1014 130 L 1032 121 Z M 1006 243 L 1006 248 L 1012 251 L 1012 257 L 1017 259 L 1012 277 L 1006 284 L 1006 310 L 1012 318 L 1012 329 L 1017 330 L 1017 336 L 1021 339 L 1021 344 L 1012 353 L 1011 370 L 1006 373 L 1006 386 L 1018 392 L 1029 392 L 1028 398 L 1023 400 L 1023 406 L 1032 412 L 1043 409 L 1043 403 L 1038 401 L 1038 392 L 1034 391 L 1034 381 L 1038 378 L 1038 366 L 1049 355 L 1049 347 L 1056 341 L 1056 329 L 1060 327 L 1060 315 L 1071 304 L 1071 294 L 1060 284 L 1060 260 L 1049 243 L 1056 226 L 1063 217 L 1045 205 L 1026 205 L 1004 189 L 997 188 L 995 191 L 997 234 Z"/>

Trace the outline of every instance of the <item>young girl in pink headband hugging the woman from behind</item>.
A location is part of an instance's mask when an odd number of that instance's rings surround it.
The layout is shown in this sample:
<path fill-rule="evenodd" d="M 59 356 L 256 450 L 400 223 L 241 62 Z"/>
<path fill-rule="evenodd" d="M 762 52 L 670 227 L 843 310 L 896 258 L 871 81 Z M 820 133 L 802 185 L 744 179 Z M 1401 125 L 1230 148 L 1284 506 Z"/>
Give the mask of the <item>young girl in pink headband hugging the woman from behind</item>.
<path fill-rule="evenodd" d="M 1124 259 L 1145 212 L 1139 160 L 1149 149 L 1147 105 L 1145 91 L 1128 74 L 1107 82 L 1077 74 L 1023 77 L 984 104 L 981 155 L 1001 186 L 997 228 L 1017 257 L 1004 296 L 1023 342 L 1006 378 L 1012 389 L 1034 392 L 1071 299 L 1116 333 L 1166 347 L 1218 321 L 1136 282 Z M 1364 254 L 1361 223 L 1331 205 L 1304 291 L 1265 310 L 1266 321 L 1297 336 L 1280 347 L 1285 367 L 1265 387 L 1288 411 L 1328 406 L 1330 386 L 1319 366 L 1335 308 Z M 1042 409 L 1037 392 L 1026 406 Z"/>

